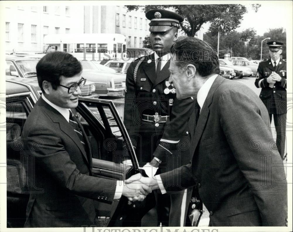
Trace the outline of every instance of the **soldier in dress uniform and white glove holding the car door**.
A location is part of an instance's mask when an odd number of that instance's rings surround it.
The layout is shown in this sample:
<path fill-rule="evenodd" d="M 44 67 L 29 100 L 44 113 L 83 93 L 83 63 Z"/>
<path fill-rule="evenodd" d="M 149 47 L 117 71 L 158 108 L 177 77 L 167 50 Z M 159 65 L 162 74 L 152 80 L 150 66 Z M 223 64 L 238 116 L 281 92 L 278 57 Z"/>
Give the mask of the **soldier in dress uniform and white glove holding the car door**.
<path fill-rule="evenodd" d="M 168 82 L 170 49 L 178 39 L 183 17 L 161 9 L 148 11 L 146 17 L 151 21 L 154 53 L 132 62 L 127 70 L 124 124 L 140 166 L 151 176 L 189 163 L 193 131 L 188 125 L 194 118 L 195 101 L 176 99 L 176 89 Z M 170 184 L 180 183 L 173 180 Z M 145 226 L 183 226 L 190 195 L 191 190 L 184 189 L 172 194 L 171 209 L 164 213 L 166 205 L 160 204 L 166 199 L 157 194 L 157 212 Z"/>

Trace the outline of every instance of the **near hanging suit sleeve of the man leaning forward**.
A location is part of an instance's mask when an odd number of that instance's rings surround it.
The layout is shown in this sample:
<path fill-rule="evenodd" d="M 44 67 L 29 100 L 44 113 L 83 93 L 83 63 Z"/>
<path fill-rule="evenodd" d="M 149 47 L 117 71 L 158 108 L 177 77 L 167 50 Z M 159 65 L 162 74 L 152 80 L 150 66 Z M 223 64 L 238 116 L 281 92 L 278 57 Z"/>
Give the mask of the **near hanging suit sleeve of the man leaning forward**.
<path fill-rule="evenodd" d="M 249 91 L 245 94 L 239 91 L 222 93 L 220 123 L 254 195 L 263 224 L 285 226 L 287 182 L 283 162 L 273 147 L 267 110 L 252 96 Z"/>

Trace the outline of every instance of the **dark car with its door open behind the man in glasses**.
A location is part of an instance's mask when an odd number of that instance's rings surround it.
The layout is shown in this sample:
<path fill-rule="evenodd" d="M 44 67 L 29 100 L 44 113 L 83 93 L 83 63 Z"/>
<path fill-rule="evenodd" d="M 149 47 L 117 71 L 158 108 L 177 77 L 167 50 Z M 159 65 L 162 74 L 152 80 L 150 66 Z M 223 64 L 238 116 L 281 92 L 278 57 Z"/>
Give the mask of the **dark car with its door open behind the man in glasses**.
<path fill-rule="evenodd" d="M 34 160 L 28 160 L 31 156 L 23 151 L 24 141 L 20 137 L 26 118 L 40 98 L 36 86 L 37 81 L 24 83 L 6 79 L 7 227 L 23 227 L 29 187 L 34 187 L 35 194 L 42 193 L 33 178 L 27 177 L 28 173 L 33 173 Z M 76 110 L 92 148 L 94 176 L 114 183 L 140 171 L 134 147 L 112 101 L 80 97 Z M 38 149 L 38 144 L 35 149 Z M 131 160 L 129 165 L 122 163 L 126 159 Z M 103 198 L 96 200 L 97 223 L 100 226 L 128 226 L 125 223 L 144 211 L 145 205 L 146 200 L 128 204 L 124 196 L 112 204 L 105 203 Z"/>

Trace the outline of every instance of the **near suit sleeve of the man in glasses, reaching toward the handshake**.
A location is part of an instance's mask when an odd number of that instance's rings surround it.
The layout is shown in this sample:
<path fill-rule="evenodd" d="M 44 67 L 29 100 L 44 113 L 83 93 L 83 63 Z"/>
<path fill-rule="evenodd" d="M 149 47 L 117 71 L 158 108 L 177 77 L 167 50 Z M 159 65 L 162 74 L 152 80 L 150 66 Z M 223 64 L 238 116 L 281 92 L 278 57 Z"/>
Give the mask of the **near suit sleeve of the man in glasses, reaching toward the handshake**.
<path fill-rule="evenodd" d="M 44 173 L 52 177 L 57 185 L 76 195 L 91 199 L 99 199 L 103 196 L 107 202 L 113 201 L 116 181 L 82 174 L 53 128 L 34 124 L 24 138 L 26 149 L 34 152 L 35 163 Z M 33 149 L 37 145 L 36 141 L 42 141 L 41 149 Z"/>

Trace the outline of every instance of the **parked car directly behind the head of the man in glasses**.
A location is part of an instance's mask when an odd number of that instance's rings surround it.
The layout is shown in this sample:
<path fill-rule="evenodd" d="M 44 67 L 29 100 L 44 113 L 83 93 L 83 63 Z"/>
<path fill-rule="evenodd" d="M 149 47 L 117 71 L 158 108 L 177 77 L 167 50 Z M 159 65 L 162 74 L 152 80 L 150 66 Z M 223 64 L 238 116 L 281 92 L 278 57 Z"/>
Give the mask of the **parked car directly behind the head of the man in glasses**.
<path fill-rule="evenodd" d="M 36 58 L 6 56 L 5 75 L 11 76 L 17 81 L 34 82 L 34 80 L 37 79 L 36 65 L 38 62 L 39 59 Z M 38 91 L 42 92 L 39 87 L 37 88 Z M 90 80 L 86 80 L 85 85 L 81 88 L 81 96 L 98 98 L 99 95 L 95 91 L 95 83 Z"/>

